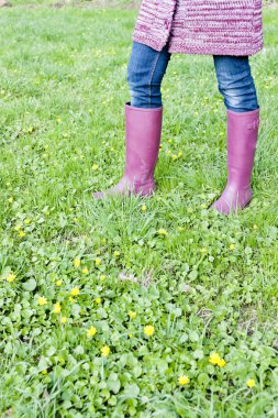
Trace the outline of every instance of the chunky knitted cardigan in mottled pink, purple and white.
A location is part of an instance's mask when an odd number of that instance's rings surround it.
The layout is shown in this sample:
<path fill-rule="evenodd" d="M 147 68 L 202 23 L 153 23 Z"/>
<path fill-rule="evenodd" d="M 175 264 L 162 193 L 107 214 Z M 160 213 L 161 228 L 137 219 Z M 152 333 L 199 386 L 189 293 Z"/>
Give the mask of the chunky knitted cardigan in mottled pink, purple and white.
<path fill-rule="evenodd" d="M 170 53 L 253 55 L 263 48 L 262 0 L 143 0 L 132 38 Z"/>

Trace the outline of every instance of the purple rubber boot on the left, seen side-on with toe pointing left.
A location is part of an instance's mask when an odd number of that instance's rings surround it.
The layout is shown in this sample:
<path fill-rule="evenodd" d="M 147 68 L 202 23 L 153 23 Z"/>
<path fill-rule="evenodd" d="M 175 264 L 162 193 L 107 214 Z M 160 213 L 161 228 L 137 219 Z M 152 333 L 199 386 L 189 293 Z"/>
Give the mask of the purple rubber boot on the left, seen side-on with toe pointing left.
<path fill-rule="evenodd" d="M 153 195 L 156 188 L 154 170 L 158 158 L 162 124 L 163 106 L 148 109 L 125 103 L 124 174 L 111 189 L 94 193 L 94 199 L 115 194 Z"/>

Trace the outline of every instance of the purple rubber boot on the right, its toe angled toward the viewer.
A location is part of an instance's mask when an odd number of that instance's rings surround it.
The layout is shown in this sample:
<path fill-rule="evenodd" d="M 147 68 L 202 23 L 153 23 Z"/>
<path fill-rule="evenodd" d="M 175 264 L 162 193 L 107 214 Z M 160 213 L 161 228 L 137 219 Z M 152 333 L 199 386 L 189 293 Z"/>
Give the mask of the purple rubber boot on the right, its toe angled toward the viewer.
<path fill-rule="evenodd" d="M 258 139 L 259 109 L 227 114 L 227 183 L 221 197 L 211 206 L 229 215 L 243 209 L 252 199 L 251 177 Z"/>

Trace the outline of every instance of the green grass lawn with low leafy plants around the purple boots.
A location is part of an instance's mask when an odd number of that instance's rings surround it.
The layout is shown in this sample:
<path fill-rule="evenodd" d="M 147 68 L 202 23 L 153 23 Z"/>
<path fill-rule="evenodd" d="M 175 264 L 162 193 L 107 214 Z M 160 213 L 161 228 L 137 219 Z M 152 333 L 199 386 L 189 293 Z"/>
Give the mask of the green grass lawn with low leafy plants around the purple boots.
<path fill-rule="evenodd" d="M 154 198 L 91 199 L 123 173 L 135 16 L 0 12 L 1 416 L 277 417 L 278 10 L 252 57 L 254 199 L 227 218 L 208 209 L 226 163 L 205 56 L 165 76 Z"/>

